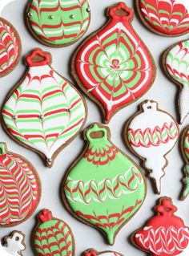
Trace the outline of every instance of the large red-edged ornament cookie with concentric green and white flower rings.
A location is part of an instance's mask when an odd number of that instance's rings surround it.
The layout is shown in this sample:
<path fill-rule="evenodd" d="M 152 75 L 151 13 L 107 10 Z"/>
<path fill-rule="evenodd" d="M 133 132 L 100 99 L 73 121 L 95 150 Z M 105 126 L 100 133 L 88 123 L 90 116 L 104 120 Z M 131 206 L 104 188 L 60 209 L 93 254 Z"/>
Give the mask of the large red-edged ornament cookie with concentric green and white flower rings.
<path fill-rule="evenodd" d="M 123 2 L 108 9 L 109 22 L 75 52 L 72 74 L 103 110 L 105 122 L 144 95 L 155 80 L 151 53 L 131 26 L 133 10 Z"/>

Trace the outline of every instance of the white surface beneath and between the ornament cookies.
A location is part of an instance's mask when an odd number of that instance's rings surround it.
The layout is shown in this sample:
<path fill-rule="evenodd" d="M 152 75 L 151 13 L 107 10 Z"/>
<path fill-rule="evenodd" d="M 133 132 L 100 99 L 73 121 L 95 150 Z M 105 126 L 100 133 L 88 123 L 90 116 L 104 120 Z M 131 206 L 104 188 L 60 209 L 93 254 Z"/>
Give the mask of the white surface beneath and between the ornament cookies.
<path fill-rule="evenodd" d="M 6 0 L 0 0 L 6 1 Z M 41 47 L 44 51 L 50 51 L 53 56 L 53 64 L 55 71 L 58 71 L 60 74 L 64 75 L 66 78 L 73 80 L 70 76 L 70 57 L 73 54 L 74 50 L 77 48 L 79 42 L 74 44 L 74 46 L 54 49 L 50 47 L 45 47 L 42 44 L 38 43 L 30 33 L 27 31 L 24 24 L 24 11 L 26 8 L 27 0 L 18 0 L 12 2 L 6 6 L 2 11 L 2 17 L 9 20 L 16 29 L 18 30 L 21 39 L 22 39 L 22 57 L 25 56 L 29 51 L 34 47 Z M 90 8 L 92 13 L 92 20 L 90 23 L 90 29 L 87 31 L 86 35 L 89 35 L 90 32 L 99 29 L 100 26 L 106 22 L 106 16 L 104 10 L 107 6 L 115 4 L 116 0 L 89 0 Z M 133 6 L 132 0 L 125 0 L 128 6 Z M 160 55 L 163 53 L 167 47 L 170 47 L 173 43 L 178 42 L 182 39 L 187 39 L 187 35 L 178 38 L 163 38 L 159 35 L 151 33 L 147 30 L 142 23 L 140 22 L 138 16 L 135 14 L 135 19 L 133 21 L 133 26 L 138 34 L 142 37 L 143 41 L 149 47 L 152 55 L 155 58 L 157 63 L 158 71 L 157 77 L 154 85 L 151 87 L 150 91 L 143 96 L 140 100 L 131 104 L 129 107 L 124 108 L 122 111 L 117 113 L 115 117 L 111 120 L 109 124 L 112 133 L 112 141 L 121 148 L 124 152 L 127 152 L 135 161 L 139 164 L 139 160 L 128 151 L 126 146 L 123 144 L 122 140 L 122 130 L 123 125 L 126 120 L 135 113 L 138 104 L 143 100 L 156 100 L 159 102 L 159 107 L 163 110 L 169 112 L 171 115 L 176 116 L 176 93 L 178 87 L 169 81 L 163 71 L 160 69 L 159 61 Z M 86 36 L 85 35 L 85 36 Z M 10 89 L 22 78 L 22 75 L 25 73 L 26 67 L 22 61 L 18 64 L 18 67 L 5 78 L 0 79 L 0 103 L 5 99 L 6 94 Z M 99 108 L 90 100 L 86 99 L 88 104 L 88 120 L 86 121 L 86 126 L 91 124 L 94 121 L 102 121 L 99 114 Z M 183 128 L 189 123 L 189 116 L 185 120 L 184 124 L 180 127 L 181 132 Z M 155 195 L 151 189 L 151 182 L 147 179 L 148 191 L 147 198 L 143 204 L 143 207 L 139 212 L 127 223 L 126 226 L 119 232 L 116 240 L 115 246 L 107 246 L 103 239 L 103 235 L 99 231 L 94 230 L 93 228 L 82 224 L 81 222 L 74 219 L 70 216 L 70 213 L 64 208 L 61 198 L 59 197 L 59 189 L 62 181 L 62 177 L 66 173 L 66 169 L 70 164 L 75 160 L 75 158 L 82 151 L 84 145 L 82 136 L 78 136 L 66 149 L 64 149 L 57 157 L 54 167 L 52 169 L 47 169 L 44 167 L 41 158 L 35 153 L 30 152 L 26 148 L 23 148 L 16 144 L 13 140 L 10 140 L 10 137 L 6 135 L 2 128 L 0 129 L 0 140 L 6 141 L 8 148 L 12 152 L 17 152 L 25 156 L 38 170 L 38 174 L 41 177 L 42 181 L 42 199 L 38 205 L 38 209 L 29 220 L 22 223 L 20 226 L 14 228 L 1 228 L 0 229 L 0 238 L 2 236 L 9 234 L 13 229 L 22 230 L 26 234 L 26 251 L 23 253 L 24 256 L 33 256 L 34 251 L 32 251 L 32 245 L 30 243 L 32 237 L 32 229 L 36 224 L 36 214 L 43 208 L 50 209 L 54 213 L 54 217 L 58 217 L 66 221 L 72 228 L 74 233 L 74 238 L 76 241 L 76 255 L 80 255 L 83 250 L 86 250 L 90 247 L 94 247 L 96 250 L 117 250 L 123 253 L 125 256 L 139 256 L 144 255 L 142 251 L 139 251 L 132 246 L 128 241 L 131 233 L 139 229 L 149 217 L 153 215 L 152 208 L 155 205 L 155 201 L 159 196 Z M 169 165 L 166 168 L 166 176 L 162 179 L 162 193 L 161 196 L 169 196 L 173 198 L 175 205 L 178 206 L 178 215 L 183 217 L 185 224 L 189 225 L 189 197 L 186 201 L 179 201 L 179 193 L 182 189 L 181 179 L 183 177 L 182 167 L 183 160 L 179 153 L 179 144 L 176 144 L 175 148 L 167 156 Z M 145 170 L 143 169 L 145 172 Z M 2 255 L 1 255 L 2 256 Z"/>

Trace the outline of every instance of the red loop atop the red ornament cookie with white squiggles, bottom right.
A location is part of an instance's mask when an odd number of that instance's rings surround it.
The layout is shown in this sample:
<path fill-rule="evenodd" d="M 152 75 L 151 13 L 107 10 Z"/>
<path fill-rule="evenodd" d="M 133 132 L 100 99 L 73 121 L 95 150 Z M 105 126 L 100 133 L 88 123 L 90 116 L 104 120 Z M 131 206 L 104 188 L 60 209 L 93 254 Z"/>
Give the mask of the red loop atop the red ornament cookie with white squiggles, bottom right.
<path fill-rule="evenodd" d="M 171 198 L 163 198 L 160 205 L 155 207 L 155 211 L 163 216 L 172 216 L 177 211 L 177 208 L 172 205 Z"/>

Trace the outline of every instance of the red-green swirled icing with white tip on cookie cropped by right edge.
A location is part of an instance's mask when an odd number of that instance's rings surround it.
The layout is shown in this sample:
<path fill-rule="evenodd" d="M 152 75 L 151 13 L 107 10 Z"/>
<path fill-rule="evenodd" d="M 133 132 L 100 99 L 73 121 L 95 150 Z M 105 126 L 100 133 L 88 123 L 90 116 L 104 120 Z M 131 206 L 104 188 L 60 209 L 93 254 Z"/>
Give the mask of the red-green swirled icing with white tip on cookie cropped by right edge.
<path fill-rule="evenodd" d="M 180 124 L 189 113 L 189 40 L 177 43 L 166 53 L 168 74 L 179 84 L 179 114 Z"/>

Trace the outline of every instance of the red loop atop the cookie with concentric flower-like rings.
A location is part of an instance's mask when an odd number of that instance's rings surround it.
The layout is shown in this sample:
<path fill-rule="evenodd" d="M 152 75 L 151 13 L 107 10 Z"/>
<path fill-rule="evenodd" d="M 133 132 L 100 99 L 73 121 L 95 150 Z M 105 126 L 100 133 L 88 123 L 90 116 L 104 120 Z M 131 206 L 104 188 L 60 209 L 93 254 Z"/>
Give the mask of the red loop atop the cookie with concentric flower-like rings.
<path fill-rule="evenodd" d="M 108 15 L 112 19 L 119 19 L 120 21 L 125 20 L 127 22 L 133 19 L 133 10 L 124 2 L 119 2 L 116 6 L 112 6 L 108 10 Z"/>

